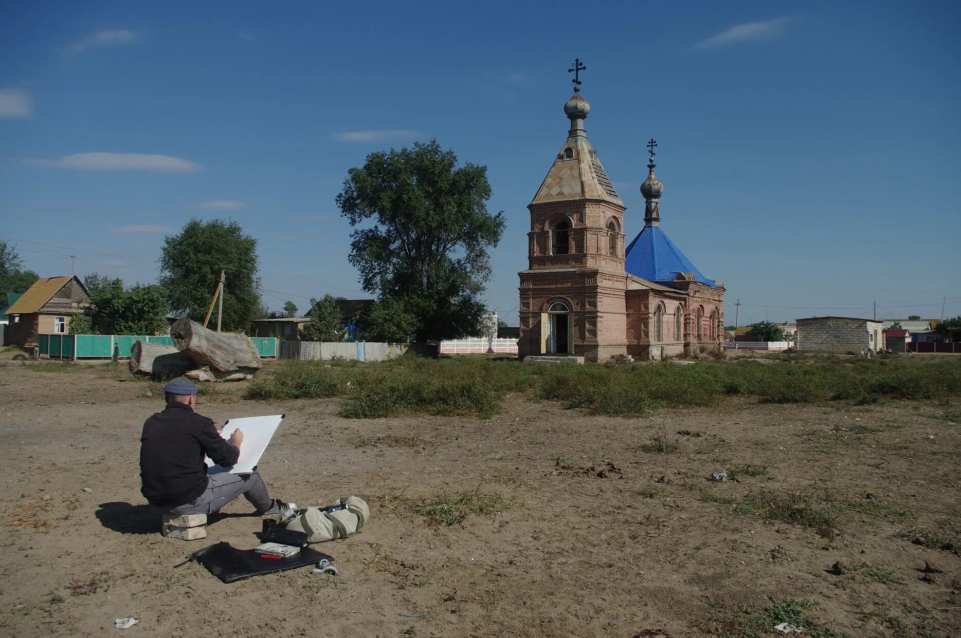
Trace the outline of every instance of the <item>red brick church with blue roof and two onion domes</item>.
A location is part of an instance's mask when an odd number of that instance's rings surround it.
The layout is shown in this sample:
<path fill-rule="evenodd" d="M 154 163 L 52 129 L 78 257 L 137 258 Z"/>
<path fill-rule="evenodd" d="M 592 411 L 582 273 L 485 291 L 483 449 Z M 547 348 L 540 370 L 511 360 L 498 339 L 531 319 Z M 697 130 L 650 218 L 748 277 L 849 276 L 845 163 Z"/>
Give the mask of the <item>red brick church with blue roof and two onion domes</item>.
<path fill-rule="evenodd" d="M 627 244 L 626 207 L 587 141 L 591 107 L 578 84 L 564 105 L 567 140 L 528 206 L 520 356 L 657 361 L 720 349 L 724 283 L 702 275 L 661 229 L 656 144 L 641 184 L 644 227 Z"/>

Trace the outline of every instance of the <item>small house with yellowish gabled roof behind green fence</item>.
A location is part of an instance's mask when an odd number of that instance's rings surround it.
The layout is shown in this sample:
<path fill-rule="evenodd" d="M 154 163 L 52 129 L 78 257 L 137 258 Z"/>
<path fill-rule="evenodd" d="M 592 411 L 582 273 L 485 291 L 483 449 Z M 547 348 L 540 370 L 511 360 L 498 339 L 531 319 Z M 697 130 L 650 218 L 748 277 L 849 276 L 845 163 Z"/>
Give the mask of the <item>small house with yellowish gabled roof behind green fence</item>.
<path fill-rule="evenodd" d="M 90 295 L 78 277 L 37 279 L 7 309 L 7 344 L 34 347 L 37 335 L 66 334 L 70 318 L 89 308 Z"/>

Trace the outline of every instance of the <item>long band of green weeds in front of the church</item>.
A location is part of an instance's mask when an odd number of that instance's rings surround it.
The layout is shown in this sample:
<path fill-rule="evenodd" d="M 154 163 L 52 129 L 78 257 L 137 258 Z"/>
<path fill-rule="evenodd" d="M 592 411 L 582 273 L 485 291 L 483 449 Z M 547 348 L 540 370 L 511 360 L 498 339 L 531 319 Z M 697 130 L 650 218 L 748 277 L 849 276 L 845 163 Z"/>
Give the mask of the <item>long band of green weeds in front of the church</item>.
<path fill-rule="evenodd" d="M 812 359 L 758 366 L 750 361 L 671 362 L 628 366 L 542 366 L 467 357 L 387 362 L 281 362 L 252 382 L 244 398 L 259 400 L 343 396 L 341 414 L 497 413 L 506 394 L 530 391 L 565 408 L 598 414 L 644 414 L 657 408 L 707 406 L 727 395 L 770 403 L 961 396 L 961 364 L 924 365 Z M 885 365 L 881 365 L 881 364 Z M 957 411 L 949 414 L 955 414 Z M 955 415 L 957 418 L 959 415 Z M 946 416 L 947 417 L 947 416 Z M 860 432 L 855 434 L 862 434 Z"/>

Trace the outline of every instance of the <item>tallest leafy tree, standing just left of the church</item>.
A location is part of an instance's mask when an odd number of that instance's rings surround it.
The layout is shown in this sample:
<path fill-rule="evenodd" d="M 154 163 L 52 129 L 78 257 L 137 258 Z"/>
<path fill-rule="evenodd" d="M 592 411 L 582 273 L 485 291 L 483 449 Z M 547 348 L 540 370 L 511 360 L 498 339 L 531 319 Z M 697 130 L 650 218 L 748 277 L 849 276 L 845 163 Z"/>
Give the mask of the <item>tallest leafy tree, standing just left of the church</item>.
<path fill-rule="evenodd" d="M 369 338 L 439 341 L 478 333 L 487 251 L 505 225 L 503 212 L 487 212 L 490 196 L 487 168 L 458 167 L 454 152 L 436 140 L 369 154 L 348 172 L 336 201 L 355 227 L 350 262 L 363 289 L 385 304 L 371 312 Z M 403 333 L 406 339 L 396 339 Z"/>

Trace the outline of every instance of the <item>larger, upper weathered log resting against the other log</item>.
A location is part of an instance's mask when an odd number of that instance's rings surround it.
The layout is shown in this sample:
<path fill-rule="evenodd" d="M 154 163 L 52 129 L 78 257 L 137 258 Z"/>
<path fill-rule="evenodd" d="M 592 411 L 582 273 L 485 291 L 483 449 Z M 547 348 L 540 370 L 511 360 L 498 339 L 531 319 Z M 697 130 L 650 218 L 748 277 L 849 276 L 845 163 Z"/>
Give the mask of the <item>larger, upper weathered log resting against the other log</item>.
<path fill-rule="evenodd" d="M 177 349 L 197 366 L 208 366 L 214 372 L 253 374 L 260 367 L 257 346 L 245 335 L 214 332 L 184 318 L 171 326 L 170 336 Z"/>

